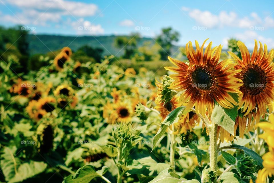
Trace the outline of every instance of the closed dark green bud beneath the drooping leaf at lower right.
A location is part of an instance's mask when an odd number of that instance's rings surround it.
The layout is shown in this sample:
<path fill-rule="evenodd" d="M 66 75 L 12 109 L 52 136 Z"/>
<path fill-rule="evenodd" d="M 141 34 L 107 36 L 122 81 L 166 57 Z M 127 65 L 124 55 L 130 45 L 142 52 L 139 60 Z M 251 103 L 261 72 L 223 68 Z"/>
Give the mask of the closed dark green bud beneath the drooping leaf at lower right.
<path fill-rule="evenodd" d="M 241 178 L 254 177 L 253 173 L 257 172 L 258 167 L 257 160 L 254 160 L 251 156 L 243 155 L 237 162 L 237 170 L 241 175 Z"/>

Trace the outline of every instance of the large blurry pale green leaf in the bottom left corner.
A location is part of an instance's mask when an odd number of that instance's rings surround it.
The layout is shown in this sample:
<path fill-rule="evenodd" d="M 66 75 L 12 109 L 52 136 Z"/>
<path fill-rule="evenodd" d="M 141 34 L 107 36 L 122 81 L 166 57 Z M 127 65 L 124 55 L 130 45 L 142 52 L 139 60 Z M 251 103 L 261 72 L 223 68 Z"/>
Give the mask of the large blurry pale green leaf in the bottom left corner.
<path fill-rule="evenodd" d="M 29 160 L 22 163 L 19 158 L 14 157 L 14 150 L 16 150 L 15 147 L 5 147 L 1 156 L 3 159 L 0 162 L 0 166 L 8 182 L 22 182 L 40 174 L 47 168 L 47 164 L 44 162 Z"/>

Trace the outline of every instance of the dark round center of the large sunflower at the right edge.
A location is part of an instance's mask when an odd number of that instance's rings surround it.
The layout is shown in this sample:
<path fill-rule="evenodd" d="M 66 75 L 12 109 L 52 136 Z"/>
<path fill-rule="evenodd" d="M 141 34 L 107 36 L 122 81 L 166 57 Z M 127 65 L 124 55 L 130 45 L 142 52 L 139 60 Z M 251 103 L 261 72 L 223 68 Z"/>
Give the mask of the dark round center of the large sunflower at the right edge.
<path fill-rule="evenodd" d="M 258 65 L 247 65 L 241 71 L 243 88 L 250 95 L 257 95 L 263 92 L 267 84 L 266 73 Z"/>

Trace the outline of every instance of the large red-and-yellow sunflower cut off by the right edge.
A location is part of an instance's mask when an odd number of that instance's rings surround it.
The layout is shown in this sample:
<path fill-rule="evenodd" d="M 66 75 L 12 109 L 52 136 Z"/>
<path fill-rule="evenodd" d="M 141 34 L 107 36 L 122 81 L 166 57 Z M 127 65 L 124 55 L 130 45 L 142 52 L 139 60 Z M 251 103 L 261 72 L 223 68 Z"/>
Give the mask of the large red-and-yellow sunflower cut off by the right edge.
<path fill-rule="evenodd" d="M 264 45 L 263 50 L 262 43 L 259 43 L 260 48 L 257 51 L 258 46 L 255 40 L 254 50 L 250 55 L 247 47 L 238 41 L 242 60 L 229 52 L 237 62 L 235 69 L 241 70 L 236 73 L 236 77 L 243 81 L 240 87 L 239 106 L 244 105 L 245 115 L 257 108 L 256 121 L 259 121 L 260 116 L 266 113 L 266 106 L 272 110 L 271 101 L 274 100 L 274 63 L 272 63 L 274 51 L 272 49 L 268 53 L 267 45 Z"/>

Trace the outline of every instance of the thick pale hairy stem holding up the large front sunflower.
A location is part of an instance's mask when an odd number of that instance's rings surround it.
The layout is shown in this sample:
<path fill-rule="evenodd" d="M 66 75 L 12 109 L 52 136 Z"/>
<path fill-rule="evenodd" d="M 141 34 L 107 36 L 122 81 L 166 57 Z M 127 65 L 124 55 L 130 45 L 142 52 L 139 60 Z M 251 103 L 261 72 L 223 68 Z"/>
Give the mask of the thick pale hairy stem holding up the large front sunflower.
<path fill-rule="evenodd" d="M 217 124 L 211 122 L 211 128 L 209 132 L 210 143 L 210 168 L 211 171 L 217 171 Z"/>

